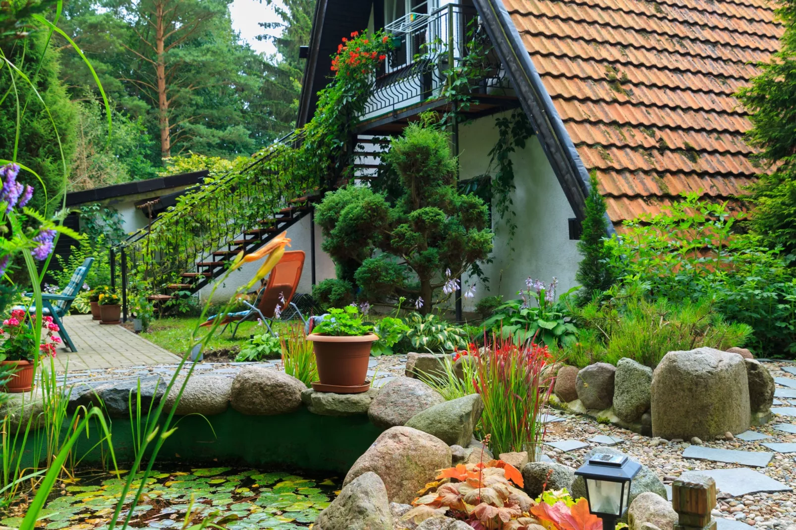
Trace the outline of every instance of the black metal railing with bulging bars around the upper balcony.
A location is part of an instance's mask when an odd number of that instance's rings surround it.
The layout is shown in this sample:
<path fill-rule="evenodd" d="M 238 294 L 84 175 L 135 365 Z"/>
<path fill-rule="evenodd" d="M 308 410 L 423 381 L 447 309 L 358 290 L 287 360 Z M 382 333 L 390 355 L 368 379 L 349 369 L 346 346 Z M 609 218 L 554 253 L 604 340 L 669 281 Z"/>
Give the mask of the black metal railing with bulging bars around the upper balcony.
<path fill-rule="evenodd" d="M 428 15 L 408 14 L 388 24 L 385 31 L 400 44 L 388 55 L 384 74 L 373 84 L 363 120 L 442 97 L 446 72 L 460 66 L 476 47 L 486 49 L 486 57 L 482 57 L 478 86 L 470 90 L 486 95 L 509 88 L 497 54 L 483 46 L 489 37 L 472 7 L 448 4 Z"/>

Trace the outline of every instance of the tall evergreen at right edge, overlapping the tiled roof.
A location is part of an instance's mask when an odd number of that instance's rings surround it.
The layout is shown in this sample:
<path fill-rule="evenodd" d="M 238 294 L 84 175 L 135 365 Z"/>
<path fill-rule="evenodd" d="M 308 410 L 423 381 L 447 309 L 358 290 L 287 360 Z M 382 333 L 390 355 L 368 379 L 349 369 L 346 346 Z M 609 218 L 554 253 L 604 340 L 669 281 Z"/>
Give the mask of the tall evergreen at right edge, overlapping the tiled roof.
<path fill-rule="evenodd" d="M 785 27 L 782 48 L 759 64 L 761 74 L 738 96 L 752 113 L 747 142 L 775 168 L 751 187 L 751 228 L 771 247 L 784 247 L 796 264 L 796 3 L 780 2 L 777 15 Z"/>

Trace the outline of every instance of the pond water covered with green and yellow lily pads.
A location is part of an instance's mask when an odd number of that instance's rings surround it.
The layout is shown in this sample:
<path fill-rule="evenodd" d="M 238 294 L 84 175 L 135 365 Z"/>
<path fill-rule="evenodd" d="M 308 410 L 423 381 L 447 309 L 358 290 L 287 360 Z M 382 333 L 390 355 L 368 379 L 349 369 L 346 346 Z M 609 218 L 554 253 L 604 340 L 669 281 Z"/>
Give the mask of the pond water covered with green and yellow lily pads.
<path fill-rule="evenodd" d="M 136 477 L 142 477 L 142 473 Z M 126 477 L 83 473 L 78 478 L 49 501 L 41 528 L 107 528 Z M 140 480 L 134 484 L 140 485 Z M 306 528 L 334 499 L 338 484 L 337 477 L 310 479 L 287 472 L 229 467 L 153 471 L 130 526 L 176 530 L 199 524 L 206 517 L 230 530 Z M 123 513 L 128 509 L 129 503 Z M 189 513 L 190 523 L 185 524 Z"/>

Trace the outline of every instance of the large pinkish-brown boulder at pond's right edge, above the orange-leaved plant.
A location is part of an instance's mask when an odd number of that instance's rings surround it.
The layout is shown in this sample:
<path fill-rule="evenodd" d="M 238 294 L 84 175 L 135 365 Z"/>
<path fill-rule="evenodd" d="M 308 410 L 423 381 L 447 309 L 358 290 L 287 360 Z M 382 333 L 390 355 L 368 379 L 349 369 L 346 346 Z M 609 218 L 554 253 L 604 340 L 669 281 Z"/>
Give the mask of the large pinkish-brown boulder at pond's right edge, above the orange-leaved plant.
<path fill-rule="evenodd" d="M 411 503 L 417 490 L 445 467 L 451 467 L 451 448 L 447 443 L 412 427 L 392 427 L 357 458 L 343 485 L 373 471 L 384 481 L 389 501 Z"/>

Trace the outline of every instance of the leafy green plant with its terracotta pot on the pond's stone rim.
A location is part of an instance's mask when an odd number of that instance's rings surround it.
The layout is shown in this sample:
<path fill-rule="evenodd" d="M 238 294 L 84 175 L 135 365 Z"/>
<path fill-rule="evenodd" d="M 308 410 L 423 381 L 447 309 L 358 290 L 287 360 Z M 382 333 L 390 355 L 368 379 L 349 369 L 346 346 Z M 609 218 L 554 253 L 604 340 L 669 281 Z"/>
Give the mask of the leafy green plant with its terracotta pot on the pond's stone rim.
<path fill-rule="evenodd" d="M 372 324 L 362 322 L 358 307 L 330 309 L 306 340 L 313 342 L 318 364 L 320 381 L 313 382 L 312 388 L 339 394 L 367 392 L 370 349 L 379 337 Z"/>

